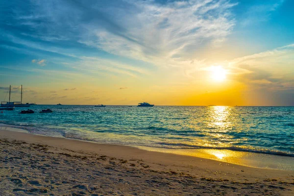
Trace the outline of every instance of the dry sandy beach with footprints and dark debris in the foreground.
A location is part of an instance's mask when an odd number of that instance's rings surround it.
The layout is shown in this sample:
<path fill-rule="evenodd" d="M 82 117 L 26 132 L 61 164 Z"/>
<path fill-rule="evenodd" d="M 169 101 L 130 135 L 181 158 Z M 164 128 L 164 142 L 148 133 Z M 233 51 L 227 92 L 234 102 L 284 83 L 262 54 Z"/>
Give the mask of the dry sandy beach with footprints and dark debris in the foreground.
<path fill-rule="evenodd" d="M 17 130 L 19 131 L 19 130 Z M 294 171 L 0 129 L 0 193 L 291 196 Z"/>

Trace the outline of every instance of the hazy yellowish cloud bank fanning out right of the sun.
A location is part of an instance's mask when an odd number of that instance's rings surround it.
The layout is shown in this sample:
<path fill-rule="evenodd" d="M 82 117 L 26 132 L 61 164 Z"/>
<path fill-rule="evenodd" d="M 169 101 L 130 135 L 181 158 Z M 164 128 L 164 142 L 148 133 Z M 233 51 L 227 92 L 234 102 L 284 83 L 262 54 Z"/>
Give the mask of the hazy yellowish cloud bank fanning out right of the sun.
<path fill-rule="evenodd" d="M 294 45 L 260 52 L 229 62 L 232 79 L 250 86 L 251 90 L 294 90 Z"/>

